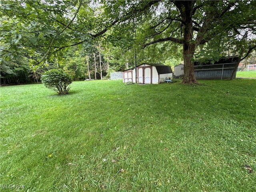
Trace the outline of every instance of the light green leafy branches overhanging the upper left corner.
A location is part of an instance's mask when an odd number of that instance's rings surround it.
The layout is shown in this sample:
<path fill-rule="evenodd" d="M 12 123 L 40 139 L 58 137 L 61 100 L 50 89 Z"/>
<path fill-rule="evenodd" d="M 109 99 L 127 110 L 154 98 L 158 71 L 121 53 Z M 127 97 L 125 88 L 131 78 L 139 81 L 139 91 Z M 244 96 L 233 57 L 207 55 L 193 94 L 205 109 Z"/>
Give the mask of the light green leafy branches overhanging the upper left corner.
<path fill-rule="evenodd" d="M 2 0 L 3 58 L 23 55 L 42 64 L 52 62 L 56 56 L 61 58 L 69 46 L 86 44 L 90 40 L 87 28 L 94 18 L 90 22 L 72 22 L 70 18 L 79 10 L 84 19 L 92 13 L 82 0 Z"/>

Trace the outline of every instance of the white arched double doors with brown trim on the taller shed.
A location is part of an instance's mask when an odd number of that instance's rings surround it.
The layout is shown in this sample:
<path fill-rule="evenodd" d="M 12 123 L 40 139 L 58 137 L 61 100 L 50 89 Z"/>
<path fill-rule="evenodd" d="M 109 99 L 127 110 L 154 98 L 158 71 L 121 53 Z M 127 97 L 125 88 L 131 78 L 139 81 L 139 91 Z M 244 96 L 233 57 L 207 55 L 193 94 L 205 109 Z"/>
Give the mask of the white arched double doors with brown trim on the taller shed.
<path fill-rule="evenodd" d="M 152 66 L 138 67 L 138 83 L 152 84 Z"/>

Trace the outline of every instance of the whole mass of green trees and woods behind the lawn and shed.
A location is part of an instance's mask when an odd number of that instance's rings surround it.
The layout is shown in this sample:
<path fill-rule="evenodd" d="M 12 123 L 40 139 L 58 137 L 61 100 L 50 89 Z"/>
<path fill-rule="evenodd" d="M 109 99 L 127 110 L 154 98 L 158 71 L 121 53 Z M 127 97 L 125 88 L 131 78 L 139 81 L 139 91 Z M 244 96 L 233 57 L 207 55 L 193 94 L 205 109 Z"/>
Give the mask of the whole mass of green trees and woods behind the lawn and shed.
<path fill-rule="evenodd" d="M 183 60 L 183 83 L 198 83 L 194 60 L 243 60 L 255 50 L 255 7 L 253 0 L 2 0 L 1 83 L 38 81 L 49 68 L 102 79 L 132 67 L 134 56 Z"/>

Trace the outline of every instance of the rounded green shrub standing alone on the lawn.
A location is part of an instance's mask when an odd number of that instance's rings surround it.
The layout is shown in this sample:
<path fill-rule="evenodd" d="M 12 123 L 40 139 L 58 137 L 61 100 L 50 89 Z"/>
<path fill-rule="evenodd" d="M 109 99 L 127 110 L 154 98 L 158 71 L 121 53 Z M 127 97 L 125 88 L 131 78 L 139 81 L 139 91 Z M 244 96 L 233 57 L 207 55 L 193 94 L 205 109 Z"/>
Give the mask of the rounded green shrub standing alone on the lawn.
<path fill-rule="evenodd" d="M 51 69 L 42 74 L 41 81 L 46 88 L 56 91 L 59 95 L 65 95 L 70 89 L 72 76 L 62 69 Z"/>

